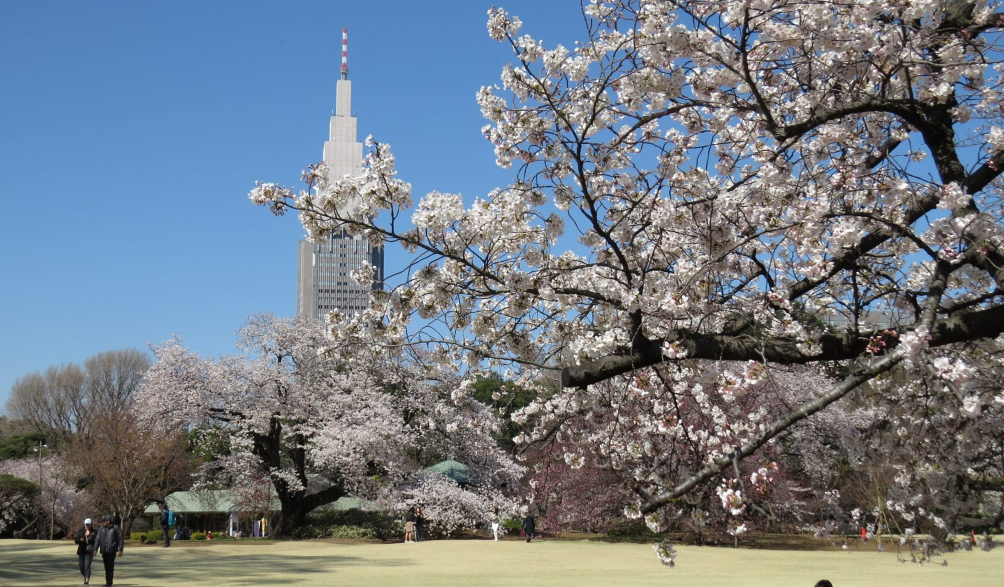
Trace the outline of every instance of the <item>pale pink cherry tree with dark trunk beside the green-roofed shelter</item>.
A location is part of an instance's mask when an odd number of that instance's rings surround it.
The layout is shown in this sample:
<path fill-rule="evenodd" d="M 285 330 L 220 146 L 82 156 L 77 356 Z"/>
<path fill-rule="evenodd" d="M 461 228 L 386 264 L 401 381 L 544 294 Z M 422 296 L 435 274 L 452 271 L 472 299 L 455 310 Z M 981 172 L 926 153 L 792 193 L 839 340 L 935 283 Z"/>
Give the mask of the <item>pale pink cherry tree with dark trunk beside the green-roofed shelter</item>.
<path fill-rule="evenodd" d="M 489 486 L 518 480 L 521 469 L 494 444 L 499 418 L 459 382 L 372 355 L 334 362 L 329 344 L 320 324 L 271 315 L 239 331 L 240 355 L 205 359 L 169 341 L 138 403 L 148 420 L 204 430 L 197 444 L 225 437 L 201 485 L 267 479 L 282 506 L 281 534 L 349 493 L 393 501 L 398 484 L 444 454 Z"/>

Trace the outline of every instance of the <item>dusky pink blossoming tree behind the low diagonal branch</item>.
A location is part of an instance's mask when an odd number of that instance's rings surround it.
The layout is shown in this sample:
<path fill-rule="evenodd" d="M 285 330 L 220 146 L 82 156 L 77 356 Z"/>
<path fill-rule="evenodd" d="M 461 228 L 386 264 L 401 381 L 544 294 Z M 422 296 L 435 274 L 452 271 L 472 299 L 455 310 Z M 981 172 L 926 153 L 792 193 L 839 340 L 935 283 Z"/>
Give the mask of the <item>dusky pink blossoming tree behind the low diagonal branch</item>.
<path fill-rule="evenodd" d="M 539 399 L 514 414 L 518 422 L 534 418 L 517 439 L 531 447 L 536 501 L 552 524 L 607 529 L 615 524 L 611 511 L 619 515 L 645 480 L 700 469 L 708 453 L 741 446 L 764 422 L 827 384 L 808 367 L 787 372 L 759 363 L 681 361 L 672 369 L 640 369 L 629 385 L 609 381 L 570 397 Z M 846 413 L 856 410 L 844 403 L 795 423 L 777 442 L 735 462 L 727 479 L 696 487 L 646 521 L 654 531 L 683 532 L 698 542 L 721 540 L 739 528 L 742 534 L 771 524 L 789 530 L 807 524 L 812 491 L 830 489 L 831 479 L 810 482 L 823 477 L 823 468 L 838 469 L 846 452 L 830 447 L 858 429 L 846 425 Z M 748 516 L 754 512 L 759 516 Z"/>

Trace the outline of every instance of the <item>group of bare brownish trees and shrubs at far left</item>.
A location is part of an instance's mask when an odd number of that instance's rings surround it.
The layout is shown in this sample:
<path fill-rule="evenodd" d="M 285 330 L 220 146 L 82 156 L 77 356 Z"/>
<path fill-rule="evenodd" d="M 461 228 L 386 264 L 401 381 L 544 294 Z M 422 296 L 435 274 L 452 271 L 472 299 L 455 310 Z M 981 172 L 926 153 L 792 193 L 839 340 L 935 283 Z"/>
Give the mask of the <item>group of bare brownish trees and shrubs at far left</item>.
<path fill-rule="evenodd" d="M 0 416 L 0 536 L 56 538 L 114 511 L 128 532 L 147 504 L 188 487 L 184 430 L 134 412 L 150 365 L 141 350 L 113 350 L 14 382 Z"/>

